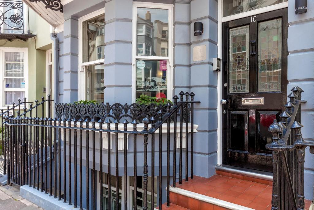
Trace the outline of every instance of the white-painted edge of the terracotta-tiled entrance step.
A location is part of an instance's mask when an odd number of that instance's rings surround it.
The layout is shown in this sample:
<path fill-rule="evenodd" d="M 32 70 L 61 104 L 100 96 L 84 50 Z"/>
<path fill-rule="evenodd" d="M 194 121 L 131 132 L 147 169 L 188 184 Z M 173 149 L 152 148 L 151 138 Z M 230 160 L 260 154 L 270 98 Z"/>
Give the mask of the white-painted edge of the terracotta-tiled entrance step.
<path fill-rule="evenodd" d="M 202 194 L 198 194 L 198 193 L 191 192 L 191 191 L 188 191 L 188 190 L 183 190 L 183 189 L 177 188 L 177 187 L 171 187 L 170 186 L 169 187 L 169 191 L 173 192 L 173 193 L 176 193 L 176 194 L 179 194 L 179 195 L 182 195 L 182 196 L 187 196 L 187 197 L 190 197 L 190 198 L 194 198 L 194 199 L 199 200 L 199 201 L 204 201 L 204 202 L 211 203 L 211 204 L 214 204 L 216 206 L 221 206 L 221 207 L 224 207 L 224 208 L 227 208 L 227 209 L 231 209 L 231 210 L 254 210 L 252 208 L 240 206 L 238 204 L 230 203 L 230 202 L 223 201 L 223 200 L 219 200 L 217 198 L 204 196 Z"/>

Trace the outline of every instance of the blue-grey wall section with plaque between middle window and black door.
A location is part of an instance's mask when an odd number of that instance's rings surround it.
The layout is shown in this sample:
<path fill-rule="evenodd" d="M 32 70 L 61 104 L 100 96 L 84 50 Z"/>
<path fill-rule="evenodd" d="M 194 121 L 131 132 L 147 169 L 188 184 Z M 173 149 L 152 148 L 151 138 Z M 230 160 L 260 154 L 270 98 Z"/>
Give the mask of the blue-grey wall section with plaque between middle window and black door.
<path fill-rule="evenodd" d="M 173 88 L 194 92 L 194 123 L 198 133 L 194 137 L 194 173 L 202 177 L 214 175 L 217 164 L 217 73 L 212 60 L 217 57 L 218 3 L 215 0 L 178 0 L 174 4 Z M 194 36 L 194 22 L 204 24 L 204 33 Z M 206 45 L 206 60 L 193 62 L 193 47 Z M 210 120 L 209 120 L 210 119 Z"/>

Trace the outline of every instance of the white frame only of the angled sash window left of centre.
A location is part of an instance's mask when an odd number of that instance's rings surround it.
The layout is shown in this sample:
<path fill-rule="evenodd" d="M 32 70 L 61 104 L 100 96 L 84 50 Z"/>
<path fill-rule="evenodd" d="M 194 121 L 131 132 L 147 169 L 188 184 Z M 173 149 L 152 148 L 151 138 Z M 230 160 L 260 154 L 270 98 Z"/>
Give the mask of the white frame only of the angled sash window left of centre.
<path fill-rule="evenodd" d="M 86 71 L 89 65 L 105 64 L 105 59 L 83 62 L 83 22 L 98 15 L 105 14 L 105 8 L 99 9 L 78 19 L 78 100 L 86 99 Z"/>

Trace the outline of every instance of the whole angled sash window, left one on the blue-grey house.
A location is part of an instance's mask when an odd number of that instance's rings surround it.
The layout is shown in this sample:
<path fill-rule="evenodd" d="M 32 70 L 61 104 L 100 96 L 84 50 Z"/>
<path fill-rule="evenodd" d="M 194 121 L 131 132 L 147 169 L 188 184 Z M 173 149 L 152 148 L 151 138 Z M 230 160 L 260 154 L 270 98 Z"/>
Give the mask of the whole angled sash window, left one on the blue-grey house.
<path fill-rule="evenodd" d="M 79 100 L 104 102 L 105 9 L 79 19 Z"/>

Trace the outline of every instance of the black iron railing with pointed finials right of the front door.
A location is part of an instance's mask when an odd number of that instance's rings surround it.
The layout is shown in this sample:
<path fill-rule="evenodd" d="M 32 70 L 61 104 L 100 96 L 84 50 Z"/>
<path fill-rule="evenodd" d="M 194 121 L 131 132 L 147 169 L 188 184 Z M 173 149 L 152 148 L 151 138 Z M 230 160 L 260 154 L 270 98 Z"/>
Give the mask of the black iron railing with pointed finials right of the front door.
<path fill-rule="evenodd" d="M 288 96 L 290 101 L 268 128 L 273 142 L 266 148 L 273 151 L 272 209 L 304 209 L 304 158 L 305 148 L 314 153 L 313 142 L 302 138 L 301 99 L 303 90 L 294 87 Z"/>

